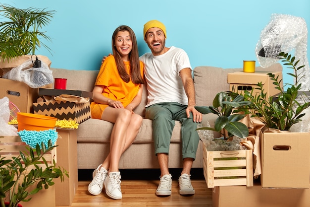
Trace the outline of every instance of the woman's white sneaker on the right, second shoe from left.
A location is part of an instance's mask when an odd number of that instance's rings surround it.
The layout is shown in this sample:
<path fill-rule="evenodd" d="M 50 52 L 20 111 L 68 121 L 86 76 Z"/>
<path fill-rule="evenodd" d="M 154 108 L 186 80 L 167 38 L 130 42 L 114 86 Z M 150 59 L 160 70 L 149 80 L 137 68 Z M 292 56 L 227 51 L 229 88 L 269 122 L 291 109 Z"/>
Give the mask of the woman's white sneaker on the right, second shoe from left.
<path fill-rule="evenodd" d="M 110 172 L 104 180 L 105 193 L 111 199 L 122 199 L 120 172 Z"/>

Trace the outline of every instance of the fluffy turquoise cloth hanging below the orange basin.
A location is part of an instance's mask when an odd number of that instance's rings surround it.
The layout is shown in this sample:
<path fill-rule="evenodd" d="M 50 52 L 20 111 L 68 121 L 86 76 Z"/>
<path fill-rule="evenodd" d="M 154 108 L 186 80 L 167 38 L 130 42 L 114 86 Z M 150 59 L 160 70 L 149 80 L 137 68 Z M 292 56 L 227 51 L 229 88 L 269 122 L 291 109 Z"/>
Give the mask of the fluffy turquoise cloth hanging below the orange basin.
<path fill-rule="evenodd" d="M 41 147 L 42 142 L 44 142 L 46 148 L 48 148 L 49 140 L 51 139 L 52 145 L 54 145 L 58 138 L 58 133 L 55 129 L 49 129 L 44 131 L 23 130 L 17 132 L 17 134 L 19 135 L 21 140 L 28 144 L 31 148 L 36 148 L 37 143 Z"/>

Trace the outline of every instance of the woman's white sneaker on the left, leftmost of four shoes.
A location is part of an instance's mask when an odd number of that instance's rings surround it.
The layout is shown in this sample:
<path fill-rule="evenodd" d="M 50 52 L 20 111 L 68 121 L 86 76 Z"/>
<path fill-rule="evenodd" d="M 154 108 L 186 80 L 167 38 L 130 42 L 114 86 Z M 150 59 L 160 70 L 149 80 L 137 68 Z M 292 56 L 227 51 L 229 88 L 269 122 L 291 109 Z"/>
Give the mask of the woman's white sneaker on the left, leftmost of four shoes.
<path fill-rule="evenodd" d="M 100 169 L 100 170 L 99 170 Z M 103 190 L 103 182 L 107 176 L 107 170 L 99 165 L 93 172 L 93 180 L 88 185 L 88 192 L 97 196 Z"/>

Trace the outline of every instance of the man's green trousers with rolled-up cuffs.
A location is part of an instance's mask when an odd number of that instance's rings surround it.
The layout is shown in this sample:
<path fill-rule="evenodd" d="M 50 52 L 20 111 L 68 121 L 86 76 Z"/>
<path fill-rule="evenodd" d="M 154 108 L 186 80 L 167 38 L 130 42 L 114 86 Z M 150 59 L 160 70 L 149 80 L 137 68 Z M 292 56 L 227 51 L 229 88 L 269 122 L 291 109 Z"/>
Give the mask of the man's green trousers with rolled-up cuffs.
<path fill-rule="evenodd" d="M 182 157 L 196 158 L 199 143 L 197 123 L 193 121 L 193 114 L 187 118 L 187 106 L 177 102 L 153 104 L 146 108 L 146 118 L 153 120 L 153 138 L 155 154 L 169 153 L 169 145 L 175 120 L 181 122 Z"/>

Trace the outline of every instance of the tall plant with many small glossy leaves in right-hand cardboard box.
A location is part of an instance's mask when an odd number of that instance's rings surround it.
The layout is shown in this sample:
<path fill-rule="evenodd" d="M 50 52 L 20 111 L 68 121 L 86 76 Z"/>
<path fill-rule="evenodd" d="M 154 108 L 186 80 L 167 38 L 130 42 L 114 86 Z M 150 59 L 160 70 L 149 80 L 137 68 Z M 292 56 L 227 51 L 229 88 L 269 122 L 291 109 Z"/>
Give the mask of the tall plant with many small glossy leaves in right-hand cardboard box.
<path fill-rule="evenodd" d="M 275 88 L 279 90 L 279 94 L 276 96 L 266 96 L 263 85 L 261 82 L 257 84 L 258 93 L 252 91 L 244 91 L 245 100 L 250 101 L 252 104 L 243 106 L 239 111 L 251 114 L 252 117 L 258 118 L 262 121 L 266 127 L 278 129 L 281 131 L 288 131 L 292 125 L 301 121 L 301 118 L 305 116 L 303 111 L 309 107 L 310 99 L 304 93 L 300 91 L 302 83 L 300 79 L 303 73 L 299 73 L 298 70 L 305 66 L 298 66 L 299 60 L 295 61 L 295 57 L 288 53 L 281 52 L 278 55 L 279 60 L 284 62 L 284 65 L 288 69 L 293 69 L 293 73 L 287 74 L 294 77 L 294 84 L 288 85 L 286 91 L 284 86 L 281 87 L 282 79 L 275 77 L 274 74 L 268 73 Z"/>

